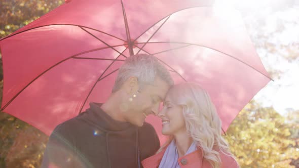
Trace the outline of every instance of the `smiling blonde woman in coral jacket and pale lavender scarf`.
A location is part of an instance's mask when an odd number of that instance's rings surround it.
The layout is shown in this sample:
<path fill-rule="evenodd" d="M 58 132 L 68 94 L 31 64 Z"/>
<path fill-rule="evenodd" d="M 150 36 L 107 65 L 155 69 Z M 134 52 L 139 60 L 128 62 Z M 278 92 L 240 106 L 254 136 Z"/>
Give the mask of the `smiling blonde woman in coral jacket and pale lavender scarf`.
<path fill-rule="evenodd" d="M 147 167 L 239 167 L 221 137 L 221 120 L 208 93 L 194 83 L 173 86 L 162 111 L 162 134 L 169 136 L 156 155 L 142 161 Z"/>

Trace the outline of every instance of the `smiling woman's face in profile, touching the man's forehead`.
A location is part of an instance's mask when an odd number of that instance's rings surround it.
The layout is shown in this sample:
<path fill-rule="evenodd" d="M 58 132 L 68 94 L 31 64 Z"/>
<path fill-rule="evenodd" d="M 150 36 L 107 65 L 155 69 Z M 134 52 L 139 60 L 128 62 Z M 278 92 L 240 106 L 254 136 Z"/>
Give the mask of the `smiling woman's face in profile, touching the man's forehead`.
<path fill-rule="evenodd" d="M 163 135 L 186 133 L 182 106 L 174 104 L 171 101 L 170 95 L 166 96 L 163 109 L 159 112 L 158 116 L 162 119 Z"/>

